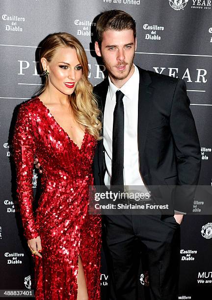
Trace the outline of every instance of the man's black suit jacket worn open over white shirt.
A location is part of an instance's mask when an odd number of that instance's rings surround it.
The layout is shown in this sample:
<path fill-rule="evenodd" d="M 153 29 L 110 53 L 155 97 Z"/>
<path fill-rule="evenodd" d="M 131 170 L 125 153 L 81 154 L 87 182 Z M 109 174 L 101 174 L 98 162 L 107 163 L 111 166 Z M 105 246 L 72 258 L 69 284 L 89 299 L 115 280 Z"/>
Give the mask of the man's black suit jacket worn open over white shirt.
<path fill-rule="evenodd" d="M 138 152 L 140 174 L 145 184 L 197 185 L 201 151 L 184 80 L 139 67 L 138 70 Z M 106 78 L 93 90 L 103 116 L 108 84 Z M 103 140 L 98 142 L 93 170 L 95 184 L 104 185 Z M 190 211 L 193 191 L 185 191 L 183 198 L 182 194 L 179 195 L 177 196 L 176 189 L 175 193 L 170 189 L 166 201 L 174 203 L 173 208 L 176 210 Z M 161 203 L 159 195 L 153 196 L 156 197 L 156 202 Z"/>

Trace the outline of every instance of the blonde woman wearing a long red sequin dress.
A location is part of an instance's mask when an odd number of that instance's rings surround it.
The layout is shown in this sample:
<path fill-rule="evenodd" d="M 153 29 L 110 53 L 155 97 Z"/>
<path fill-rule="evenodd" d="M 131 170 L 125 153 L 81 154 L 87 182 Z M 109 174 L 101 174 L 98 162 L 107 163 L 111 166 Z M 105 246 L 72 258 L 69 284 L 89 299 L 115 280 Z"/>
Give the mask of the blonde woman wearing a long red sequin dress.
<path fill-rule="evenodd" d="M 99 110 L 79 41 L 47 37 L 40 50 L 46 84 L 22 104 L 13 138 L 17 192 L 27 243 L 34 251 L 37 300 L 100 299 L 101 219 L 88 214 Z M 34 157 L 42 194 L 32 210 Z"/>

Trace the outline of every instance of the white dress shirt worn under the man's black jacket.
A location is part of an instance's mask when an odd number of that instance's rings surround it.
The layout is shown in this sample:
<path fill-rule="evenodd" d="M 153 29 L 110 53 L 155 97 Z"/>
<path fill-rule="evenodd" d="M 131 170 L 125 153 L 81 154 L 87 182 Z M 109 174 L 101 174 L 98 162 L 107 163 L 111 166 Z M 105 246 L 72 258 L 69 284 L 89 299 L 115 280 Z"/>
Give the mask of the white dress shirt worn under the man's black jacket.
<path fill-rule="evenodd" d="M 138 123 L 138 90 L 139 72 L 134 65 L 134 73 L 119 89 L 109 79 L 104 112 L 104 147 L 106 174 L 105 184 L 110 186 L 112 165 L 112 129 L 113 111 L 116 104 L 116 91 L 121 90 L 125 95 L 124 104 L 124 185 L 144 185 L 139 171 L 137 123 Z"/>

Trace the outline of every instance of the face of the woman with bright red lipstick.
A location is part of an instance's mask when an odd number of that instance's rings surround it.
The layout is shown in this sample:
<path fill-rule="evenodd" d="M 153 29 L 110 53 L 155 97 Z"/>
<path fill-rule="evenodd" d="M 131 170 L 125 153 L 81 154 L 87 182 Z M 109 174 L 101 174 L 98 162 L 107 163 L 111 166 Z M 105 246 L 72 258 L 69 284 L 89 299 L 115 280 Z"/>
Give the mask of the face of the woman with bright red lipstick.
<path fill-rule="evenodd" d="M 41 58 L 43 69 L 49 72 L 48 87 L 65 95 L 71 95 L 82 77 L 82 66 L 77 52 L 71 47 L 59 47 L 49 63 Z"/>

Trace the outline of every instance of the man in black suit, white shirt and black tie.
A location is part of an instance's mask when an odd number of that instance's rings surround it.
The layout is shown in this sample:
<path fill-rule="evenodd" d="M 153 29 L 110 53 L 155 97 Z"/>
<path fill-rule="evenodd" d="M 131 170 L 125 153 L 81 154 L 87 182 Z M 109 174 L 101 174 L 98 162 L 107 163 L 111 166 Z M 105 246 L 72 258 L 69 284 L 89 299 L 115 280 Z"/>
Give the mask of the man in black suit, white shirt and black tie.
<path fill-rule="evenodd" d="M 103 112 L 104 137 L 94 158 L 95 184 L 120 189 L 196 185 L 201 152 L 185 82 L 133 64 L 136 30 L 129 14 L 106 11 L 96 28 L 96 54 L 109 76 L 94 87 Z M 173 195 L 170 192 L 171 214 L 104 216 L 114 288 L 110 299 L 138 299 L 141 246 L 148 254 L 150 299 L 177 299 L 183 218 L 179 212 L 189 211 L 192 192 L 183 199 Z"/>

